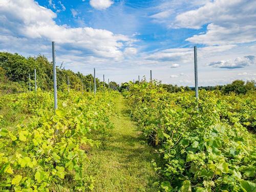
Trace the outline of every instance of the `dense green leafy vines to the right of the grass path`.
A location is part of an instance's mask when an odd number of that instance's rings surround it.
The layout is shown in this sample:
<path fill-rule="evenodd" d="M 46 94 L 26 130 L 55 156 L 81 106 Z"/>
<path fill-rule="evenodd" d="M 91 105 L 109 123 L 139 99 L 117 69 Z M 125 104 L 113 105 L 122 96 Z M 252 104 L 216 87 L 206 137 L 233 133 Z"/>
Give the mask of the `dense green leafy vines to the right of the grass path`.
<path fill-rule="evenodd" d="M 130 87 L 129 108 L 158 148 L 161 191 L 250 191 L 255 186 L 255 94 L 168 93 L 158 83 Z M 169 186 L 170 185 L 170 186 Z"/>

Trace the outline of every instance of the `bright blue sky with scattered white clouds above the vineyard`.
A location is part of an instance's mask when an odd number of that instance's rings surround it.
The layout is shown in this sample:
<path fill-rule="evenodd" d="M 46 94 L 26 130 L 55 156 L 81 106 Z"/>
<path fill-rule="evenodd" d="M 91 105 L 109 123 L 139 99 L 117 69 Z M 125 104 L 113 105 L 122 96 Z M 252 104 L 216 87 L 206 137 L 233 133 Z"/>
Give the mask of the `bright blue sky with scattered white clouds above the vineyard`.
<path fill-rule="evenodd" d="M 0 51 L 45 55 L 118 83 L 256 80 L 254 0 L 0 0 Z"/>

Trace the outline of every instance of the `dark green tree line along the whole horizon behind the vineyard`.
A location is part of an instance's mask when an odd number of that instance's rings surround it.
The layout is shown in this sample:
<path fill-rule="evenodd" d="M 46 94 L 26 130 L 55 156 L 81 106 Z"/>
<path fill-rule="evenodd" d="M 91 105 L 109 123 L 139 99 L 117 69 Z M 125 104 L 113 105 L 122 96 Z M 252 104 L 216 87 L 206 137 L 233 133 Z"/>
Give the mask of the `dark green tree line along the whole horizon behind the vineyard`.
<path fill-rule="evenodd" d="M 28 90 L 29 74 L 31 76 L 31 86 L 34 86 L 34 69 L 36 69 L 37 87 L 42 90 L 53 89 L 53 67 L 52 62 L 49 62 L 44 55 L 24 57 L 17 53 L 12 54 L 8 52 L 0 52 L 0 90 L 8 90 L 8 92 L 22 92 Z M 81 90 L 82 82 L 83 89 L 86 91 L 93 90 L 94 81 L 93 75 L 83 75 L 80 72 L 73 72 L 66 70 L 62 67 L 62 64 L 57 67 L 57 87 L 59 90 L 67 89 L 68 77 L 70 80 L 70 88 Z M 145 80 L 145 79 L 144 79 Z M 2 83 L 1 83 L 2 82 Z M 139 83 L 136 81 L 135 83 Z M 108 88 L 108 83 L 100 81 L 96 78 L 96 86 L 99 89 L 103 88 L 103 85 Z M 129 82 L 118 83 L 111 81 L 111 84 L 115 86 L 119 91 L 127 90 Z M 195 88 L 179 87 L 172 84 L 162 84 L 168 92 L 175 93 L 181 91 L 194 91 Z M 220 90 L 223 94 L 229 94 L 234 92 L 236 94 L 245 94 L 250 90 L 255 90 L 255 81 L 243 81 L 234 80 L 230 84 L 225 86 L 208 86 L 199 87 L 207 91 Z"/>

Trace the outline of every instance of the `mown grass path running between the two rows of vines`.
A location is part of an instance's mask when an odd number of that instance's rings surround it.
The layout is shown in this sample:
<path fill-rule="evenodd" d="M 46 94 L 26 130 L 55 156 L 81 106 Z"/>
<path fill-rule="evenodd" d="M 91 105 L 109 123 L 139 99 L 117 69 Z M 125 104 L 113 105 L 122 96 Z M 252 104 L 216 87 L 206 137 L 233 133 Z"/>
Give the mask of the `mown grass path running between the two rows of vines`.
<path fill-rule="evenodd" d="M 157 191 L 157 175 L 151 166 L 154 149 L 139 138 L 136 124 L 125 113 L 125 99 L 116 101 L 118 116 L 112 118 L 111 134 L 98 138 L 86 172 L 95 178 L 93 191 Z"/>

